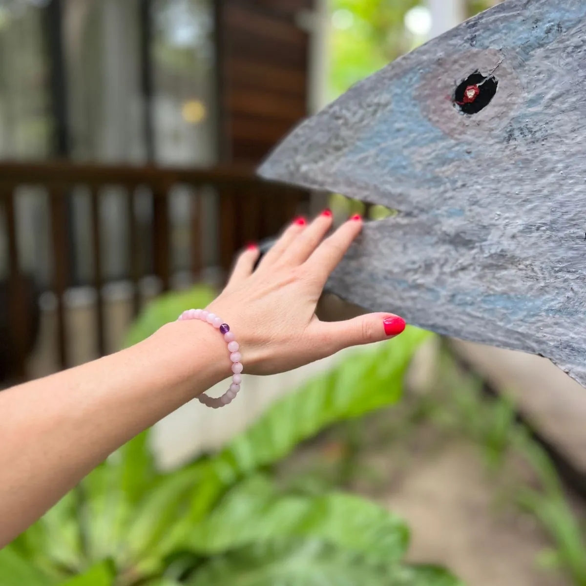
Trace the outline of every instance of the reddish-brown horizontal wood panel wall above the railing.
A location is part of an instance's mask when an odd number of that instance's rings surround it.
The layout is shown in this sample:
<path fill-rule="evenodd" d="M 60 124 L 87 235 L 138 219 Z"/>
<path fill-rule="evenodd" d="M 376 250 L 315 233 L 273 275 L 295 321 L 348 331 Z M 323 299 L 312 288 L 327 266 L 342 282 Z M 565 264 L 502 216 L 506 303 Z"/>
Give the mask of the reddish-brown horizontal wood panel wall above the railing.
<path fill-rule="evenodd" d="M 220 158 L 258 163 L 307 113 L 313 0 L 216 0 Z"/>

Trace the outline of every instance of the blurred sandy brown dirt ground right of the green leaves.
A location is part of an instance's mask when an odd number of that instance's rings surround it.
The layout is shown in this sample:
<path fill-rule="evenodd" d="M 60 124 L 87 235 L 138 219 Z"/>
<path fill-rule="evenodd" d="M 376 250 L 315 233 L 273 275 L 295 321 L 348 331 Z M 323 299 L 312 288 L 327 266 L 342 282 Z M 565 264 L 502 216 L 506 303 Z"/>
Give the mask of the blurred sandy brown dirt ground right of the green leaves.
<path fill-rule="evenodd" d="M 503 498 L 503 483 L 478 446 L 425 420 L 397 429 L 403 408 L 367 418 L 347 488 L 407 521 L 408 560 L 445 565 L 468 586 L 570 586 L 560 571 L 540 565 L 550 538 Z M 302 447 L 284 465 L 284 478 L 338 474 L 340 440 L 333 431 Z"/>

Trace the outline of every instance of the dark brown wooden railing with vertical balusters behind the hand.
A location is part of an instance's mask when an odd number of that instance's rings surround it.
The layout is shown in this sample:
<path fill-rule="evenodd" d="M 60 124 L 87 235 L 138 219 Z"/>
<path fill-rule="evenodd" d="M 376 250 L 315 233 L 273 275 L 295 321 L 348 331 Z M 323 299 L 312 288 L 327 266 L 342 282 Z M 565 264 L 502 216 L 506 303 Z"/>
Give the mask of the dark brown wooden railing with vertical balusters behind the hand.
<path fill-rule="evenodd" d="M 68 198 L 73 189 L 80 186 L 90 194 L 91 248 L 93 256 L 93 282 L 97 292 L 96 332 L 100 355 L 105 352 L 104 301 L 105 284 L 101 241 L 103 233 L 98 217 L 101 191 L 110 186 L 124 189 L 127 202 L 128 247 L 120 251 L 130 259 L 130 274 L 127 278 L 134 285 L 132 305 L 134 313 L 139 311 L 138 282 L 141 274 L 139 257 L 141 249 L 138 238 L 137 217 L 134 199 L 137 189 L 147 188 L 152 194 L 152 267 L 159 278 L 162 289 L 169 289 L 171 282 L 171 229 L 169 222 L 169 193 L 175 186 L 188 186 L 192 193 L 190 214 L 190 271 L 197 275 L 202 271 L 202 243 L 199 235 L 202 226 L 212 221 L 205 216 L 199 194 L 202 189 L 212 189 L 217 202 L 217 241 L 209 243 L 216 247 L 220 266 L 228 269 L 234 254 L 246 241 L 258 241 L 272 236 L 294 214 L 304 212 L 308 194 L 301 190 L 264 182 L 254 176 L 251 169 L 216 166 L 207 169 L 155 168 L 113 165 L 74 165 L 66 162 L 53 163 L 0 163 L 0 216 L 4 217 L 4 229 L 0 227 L 0 238 L 4 238 L 8 250 L 8 339 L 4 340 L 4 351 L 8 353 L 9 373 L 14 379 L 26 378 L 26 355 L 30 349 L 31 322 L 33 319 L 28 303 L 28 281 L 19 262 L 18 243 L 26 234 L 18 234 L 15 199 L 22 188 L 42 187 L 49 207 L 50 258 L 52 269 L 48 289 L 57 299 L 57 355 L 59 366 L 69 366 L 67 360 L 67 330 L 65 327 L 63 295 L 71 286 L 70 252 L 73 243 L 67 224 Z M 1 298 L 1 295 L 0 295 Z M 0 365 L 2 364 L 0 359 Z M 0 366 L 1 368 L 2 366 Z M 6 366 L 4 366 L 6 368 Z"/>

